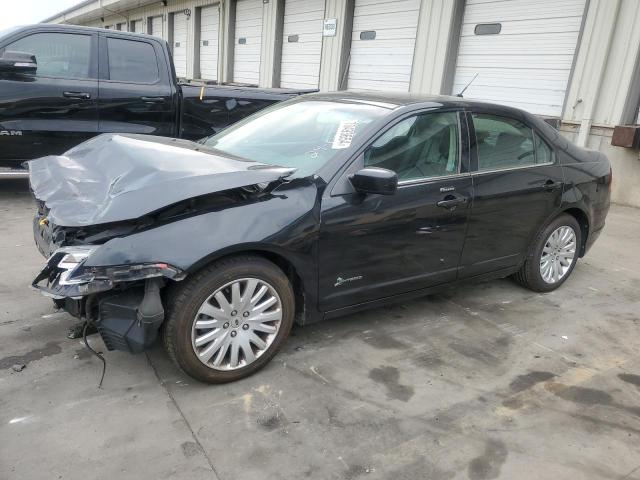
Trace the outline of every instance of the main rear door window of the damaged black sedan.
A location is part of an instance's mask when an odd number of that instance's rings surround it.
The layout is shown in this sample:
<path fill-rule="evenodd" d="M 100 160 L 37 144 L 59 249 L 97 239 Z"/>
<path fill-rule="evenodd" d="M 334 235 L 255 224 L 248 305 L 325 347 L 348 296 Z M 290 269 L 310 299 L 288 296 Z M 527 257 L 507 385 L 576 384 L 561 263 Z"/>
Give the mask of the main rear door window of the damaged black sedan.
<path fill-rule="evenodd" d="M 479 171 L 536 164 L 531 128 L 513 118 L 482 113 L 472 116 Z"/>

